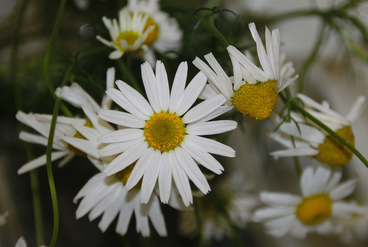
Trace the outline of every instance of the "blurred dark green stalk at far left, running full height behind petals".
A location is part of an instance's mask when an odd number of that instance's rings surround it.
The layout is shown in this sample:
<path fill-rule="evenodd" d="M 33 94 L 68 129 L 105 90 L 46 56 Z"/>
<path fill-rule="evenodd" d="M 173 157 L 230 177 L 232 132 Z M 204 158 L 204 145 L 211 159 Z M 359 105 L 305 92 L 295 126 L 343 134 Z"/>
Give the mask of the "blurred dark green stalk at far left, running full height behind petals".
<path fill-rule="evenodd" d="M 19 85 L 17 83 L 18 43 L 19 43 L 19 37 L 20 37 L 20 29 L 22 26 L 24 12 L 26 10 L 27 4 L 28 4 L 28 0 L 24 0 L 20 3 L 19 13 L 17 14 L 17 21 L 15 23 L 15 28 L 14 28 L 13 39 L 11 41 L 10 81 L 13 83 L 14 103 L 15 103 L 15 109 L 17 111 L 21 109 L 21 105 L 22 105 Z M 28 161 L 32 160 L 34 156 L 33 156 L 31 145 L 27 142 L 24 142 L 24 148 L 25 148 L 25 152 L 27 155 L 27 160 Z M 37 246 L 42 246 L 44 244 L 42 202 L 41 202 L 41 197 L 40 197 L 37 170 L 32 170 L 31 172 L 29 172 L 29 180 L 31 183 L 31 191 L 32 191 L 33 217 L 35 220 L 36 242 L 37 242 Z"/>

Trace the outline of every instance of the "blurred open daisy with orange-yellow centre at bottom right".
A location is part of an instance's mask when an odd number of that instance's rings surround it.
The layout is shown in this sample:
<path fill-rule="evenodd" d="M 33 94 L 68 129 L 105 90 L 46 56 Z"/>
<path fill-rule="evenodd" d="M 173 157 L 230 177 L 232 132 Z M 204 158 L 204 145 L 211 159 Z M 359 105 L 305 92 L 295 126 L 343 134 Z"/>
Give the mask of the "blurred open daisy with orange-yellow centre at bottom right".
<path fill-rule="evenodd" d="M 341 176 L 322 166 L 307 167 L 300 179 L 302 195 L 261 192 L 261 201 L 269 207 L 256 210 L 254 220 L 265 222 L 266 231 L 275 237 L 333 233 L 336 219 L 351 218 L 357 210 L 341 200 L 353 193 L 357 179 L 339 183 Z"/>

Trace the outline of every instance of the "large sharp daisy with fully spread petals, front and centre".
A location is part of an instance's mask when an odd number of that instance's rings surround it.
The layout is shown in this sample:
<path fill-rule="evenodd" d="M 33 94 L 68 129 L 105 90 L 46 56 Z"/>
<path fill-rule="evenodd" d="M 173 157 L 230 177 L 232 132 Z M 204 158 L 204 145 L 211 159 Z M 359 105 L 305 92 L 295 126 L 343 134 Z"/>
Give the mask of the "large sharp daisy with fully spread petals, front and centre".
<path fill-rule="evenodd" d="M 138 160 L 127 180 L 127 190 L 133 188 L 143 176 L 141 202 L 147 203 L 158 180 L 160 200 L 167 203 L 173 177 L 184 204 L 188 206 L 192 203 L 188 177 L 202 193 L 206 194 L 210 190 L 205 176 L 194 160 L 221 174 L 222 165 L 209 153 L 235 156 L 232 148 L 199 135 L 233 130 L 237 123 L 230 120 L 207 122 L 222 113 L 220 106 L 226 101 L 222 94 L 189 110 L 207 78 L 200 72 L 184 89 L 188 70 L 186 62 L 178 67 L 171 94 L 166 70 L 161 61 L 157 61 L 156 75 L 148 62 L 142 64 L 141 70 L 149 102 L 120 80 L 116 81 L 120 90 L 110 88 L 106 91 L 128 113 L 99 111 L 99 117 L 103 120 L 126 127 L 98 139 L 99 142 L 109 144 L 100 150 L 100 156 L 121 153 L 107 165 L 104 172 L 110 176 Z"/>

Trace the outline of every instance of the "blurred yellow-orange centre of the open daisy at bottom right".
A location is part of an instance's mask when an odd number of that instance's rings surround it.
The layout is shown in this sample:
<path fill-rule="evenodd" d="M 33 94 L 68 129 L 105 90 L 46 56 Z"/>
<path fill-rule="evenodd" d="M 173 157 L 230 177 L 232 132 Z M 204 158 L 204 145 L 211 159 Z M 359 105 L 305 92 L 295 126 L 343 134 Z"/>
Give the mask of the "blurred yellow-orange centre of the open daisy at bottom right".
<path fill-rule="evenodd" d="M 332 212 L 332 201 L 327 194 L 312 195 L 304 198 L 298 205 L 296 215 L 308 226 L 318 225 L 328 219 Z"/>

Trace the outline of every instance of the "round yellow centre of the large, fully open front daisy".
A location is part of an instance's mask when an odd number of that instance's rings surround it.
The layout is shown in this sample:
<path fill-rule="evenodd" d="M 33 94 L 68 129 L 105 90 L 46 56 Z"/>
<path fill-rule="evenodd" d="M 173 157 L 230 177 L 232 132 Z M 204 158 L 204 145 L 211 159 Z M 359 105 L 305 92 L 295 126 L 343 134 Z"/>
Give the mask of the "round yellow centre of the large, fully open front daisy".
<path fill-rule="evenodd" d="M 177 114 L 162 111 L 147 120 L 143 134 L 149 147 L 168 152 L 183 141 L 185 125 Z"/>

